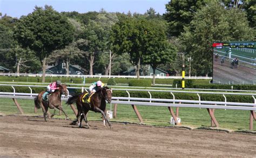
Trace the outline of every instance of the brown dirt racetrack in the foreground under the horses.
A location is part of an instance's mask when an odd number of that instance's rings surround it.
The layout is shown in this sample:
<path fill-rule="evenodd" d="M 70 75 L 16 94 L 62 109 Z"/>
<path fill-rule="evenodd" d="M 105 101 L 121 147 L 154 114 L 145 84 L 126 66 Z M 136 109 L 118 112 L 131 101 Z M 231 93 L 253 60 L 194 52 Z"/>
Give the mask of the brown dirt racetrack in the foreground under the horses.
<path fill-rule="evenodd" d="M 0 116 L 0 157 L 256 156 L 256 135 L 90 121 Z M 83 122 L 84 123 L 84 122 Z"/>

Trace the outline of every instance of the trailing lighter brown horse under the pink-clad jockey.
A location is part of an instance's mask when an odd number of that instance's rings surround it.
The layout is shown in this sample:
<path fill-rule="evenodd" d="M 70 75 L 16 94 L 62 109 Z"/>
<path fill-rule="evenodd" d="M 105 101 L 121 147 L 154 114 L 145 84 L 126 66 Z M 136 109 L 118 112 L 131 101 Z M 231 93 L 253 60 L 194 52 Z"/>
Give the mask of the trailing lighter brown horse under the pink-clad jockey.
<path fill-rule="evenodd" d="M 41 107 L 43 109 L 44 120 L 46 121 L 46 113 L 48 112 L 48 108 L 54 109 L 53 115 L 55 115 L 56 108 L 59 109 L 60 111 L 63 111 L 63 113 L 66 116 L 66 119 L 69 119 L 68 115 L 64 112 L 62 108 L 62 101 L 60 99 L 62 97 L 62 94 L 65 94 L 65 96 L 68 96 L 68 90 L 66 88 L 66 85 L 60 85 L 59 89 L 55 90 L 51 95 L 49 95 L 48 101 L 45 101 L 43 99 L 44 93 L 45 91 L 40 92 L 35 98 L 36 108 Z M 48 118 L 50 119 L 51 116 L 48 115 Z"/>

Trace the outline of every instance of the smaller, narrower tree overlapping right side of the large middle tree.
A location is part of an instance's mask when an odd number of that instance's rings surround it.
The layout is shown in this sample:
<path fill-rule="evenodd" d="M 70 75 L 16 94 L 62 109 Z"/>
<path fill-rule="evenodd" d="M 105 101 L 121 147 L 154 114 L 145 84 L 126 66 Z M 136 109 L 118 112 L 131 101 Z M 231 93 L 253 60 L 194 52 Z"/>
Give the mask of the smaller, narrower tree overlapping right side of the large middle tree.
<path fill-rule="evenodd" d="M 149 64 L 153 69 L 153 85 L 156 83 L 156 69 L 160 64 L 171 63 L 177 50 L 167 42 L 166 24 L 160 20 L 150 22 L 147 29 L 146 53 L 143 64 Z"/>

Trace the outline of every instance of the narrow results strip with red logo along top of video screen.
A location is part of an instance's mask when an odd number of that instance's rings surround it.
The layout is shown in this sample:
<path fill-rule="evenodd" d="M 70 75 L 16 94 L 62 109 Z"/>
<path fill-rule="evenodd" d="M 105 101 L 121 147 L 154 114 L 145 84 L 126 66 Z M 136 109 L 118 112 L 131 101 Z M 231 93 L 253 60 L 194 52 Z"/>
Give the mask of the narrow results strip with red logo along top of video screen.
<path fill-rule="evenodd" d="M 247 48 L 253 49 L 255 43 L 213 43 L 212 46 L 216 47 L 216 49 L 223 49 L 223 46 L 231 47 L 231 48 Z"/>

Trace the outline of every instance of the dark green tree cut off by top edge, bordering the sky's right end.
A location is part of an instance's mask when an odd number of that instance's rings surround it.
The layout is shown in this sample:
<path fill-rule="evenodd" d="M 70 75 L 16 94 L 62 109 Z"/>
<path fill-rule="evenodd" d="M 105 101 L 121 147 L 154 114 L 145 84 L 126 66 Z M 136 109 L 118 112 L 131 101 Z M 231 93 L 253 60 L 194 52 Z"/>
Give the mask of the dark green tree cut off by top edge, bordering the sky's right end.
<path fill-rule="evenodd" d="M 190 24 L 194 13 L 204 4 L 204 0 L 171 0 L 166 4 L 164 18 L 169 22 L 170 35 L 178 37 L 184 27 Z"/>

